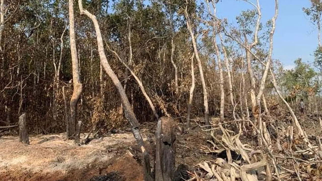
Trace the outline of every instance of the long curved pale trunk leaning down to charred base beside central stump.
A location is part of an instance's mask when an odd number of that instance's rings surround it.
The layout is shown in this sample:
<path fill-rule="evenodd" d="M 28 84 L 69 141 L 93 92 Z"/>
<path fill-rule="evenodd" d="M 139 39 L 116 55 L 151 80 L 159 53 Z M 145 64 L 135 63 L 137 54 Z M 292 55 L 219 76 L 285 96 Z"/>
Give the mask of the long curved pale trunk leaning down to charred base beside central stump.
<path fill-rule="evenodd" d="M 72 1 L 72 0 L 70 0 L 70 1 Z M 143 153 L 144 180 L 145 181 L 152 181 L 153 178 L 151 177 L 149 153 L 146 150 L 146 148 L 144 147 L 144 142 L 143 142 L 142 136 L 139 132 L 139 123 L 137 121 L 137 118 L 135 117 L 133 110 L 131 109 L 131 105 L 128 101 L 128 98 L 125 94 L 125 91 L 123 89 L 121 82 L 118 80 L 118 77 L 116 76 L 114 71 L 111 69 L 109 62 L 107 61 L 107 58 L 106 58 L 106 55 L 104 52 L 104 47 L 103 47 L 103 38 L 102 38 L 100 29 L 99 29 L 98 21 L 93 14 L 90 14 L 87 10 L 83 9 L 82 0 L 78 0 L 78 5 L 79 5 L 80 13 L 88 16 L 94 24 L 96 37 L 97 37 L 97 44 L 98 44 L 100 61 L 102 63 L 104 70 L 106 71 L 106 73 L 109 75 L 109 77 L 113 81 L 115 87 L 118 89 L 118 93 L 120 95 L 121 102 L 122 102 L 122 105 L 124 108 L 125 117 L 128 119 L 129 123 L 131 124 L 132 133 L 133 133 L 134 137 L 136 138 L 137 143 L 140 146 L 141 151 Z"/>

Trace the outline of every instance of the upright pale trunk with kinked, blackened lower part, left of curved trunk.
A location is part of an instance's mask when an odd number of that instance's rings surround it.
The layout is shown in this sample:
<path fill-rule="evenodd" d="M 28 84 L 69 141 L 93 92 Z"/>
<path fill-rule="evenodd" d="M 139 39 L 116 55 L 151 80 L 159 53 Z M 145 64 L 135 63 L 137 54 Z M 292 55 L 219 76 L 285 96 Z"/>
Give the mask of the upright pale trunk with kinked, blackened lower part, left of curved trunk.
<path fill-rule="evenodd" d="M 75 142 L 79 142 L 79 133 L 75 133 L 76 129 L 76 113 L 77 113 L 77 103 L 81 97 L 82 84 L 80 81 L 80 70 L 77 59 L 77 50 L 76 50 L 76 40 L 75 40 L 75 27 L 74 27 L 74 1 L 69 0 L 69 36 L 71 42 L 71 66 L 73 73 L 73 94 L 70 100 L 70 116 L 69 123 L 67 126 L 67 136 L 71 137 L 75 135 Z M 79 120 L 80 122 L 81 120 Z M 81 123 L 81 122 L 80 122 Z"/>

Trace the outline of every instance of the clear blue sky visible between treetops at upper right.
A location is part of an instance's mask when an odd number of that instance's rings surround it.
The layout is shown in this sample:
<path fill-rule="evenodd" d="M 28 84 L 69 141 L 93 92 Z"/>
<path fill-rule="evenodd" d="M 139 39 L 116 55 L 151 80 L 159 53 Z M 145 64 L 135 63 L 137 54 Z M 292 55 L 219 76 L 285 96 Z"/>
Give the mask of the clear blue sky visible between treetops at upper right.
<path fill-rule="evenodd" d="M 260 0 L 263 24 L 273 17 L 274 2 Z M 317 47 L 317 30 L 302 11 L 303 7 L 309 6 L 309 0 L 279 0 L 273 58 L 279 59 L 285 69 L 294 67 L 294 60 L 297 58 L 302 58 L 304 62 L 314 60 L 312 54 Z M 235 17 L 246 9 L 253 9 L 253 6 L 244 1 L 223 0 L 217 4 L 216 14 L 219 18 L 228 18 L 230 23 L 235 23 Z"/>

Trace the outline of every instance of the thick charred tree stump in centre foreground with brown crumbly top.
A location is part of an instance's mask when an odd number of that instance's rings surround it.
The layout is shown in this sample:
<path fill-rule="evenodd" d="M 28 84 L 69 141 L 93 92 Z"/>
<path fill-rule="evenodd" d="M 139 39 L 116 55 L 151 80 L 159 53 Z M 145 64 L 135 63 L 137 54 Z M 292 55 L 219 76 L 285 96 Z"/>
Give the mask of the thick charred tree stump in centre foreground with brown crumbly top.
<path fill-rule="evenodd" d="M 175 172 L 175 120 L 159 119 L 156 129 L 155 181 L 171 181 Z"/>

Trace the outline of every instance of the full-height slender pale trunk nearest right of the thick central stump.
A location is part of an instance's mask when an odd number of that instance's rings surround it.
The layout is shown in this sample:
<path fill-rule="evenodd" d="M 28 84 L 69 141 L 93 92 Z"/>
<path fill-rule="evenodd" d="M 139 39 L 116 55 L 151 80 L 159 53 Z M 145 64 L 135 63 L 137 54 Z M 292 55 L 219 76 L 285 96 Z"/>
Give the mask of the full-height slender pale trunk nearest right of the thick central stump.
<path fill-rule="evenodd" d="M 189 15 L 188 15 L 187 6 L 188 6 L 188 3 L 186 2 L 186 6 L 185 6 L 186 24 L 187 24 L 187 28 L 188 28 L 188 31 L 190 33 L 191 39 L 192 39 L 192 44 L 194 46 L 194 54 L 195 54 L 196 59 L 197 59 L 197 62 L 198 62 L 201 83 L 202 83 L 202 87 L 203 87 L 203 91 L 204 91 L 204 118 L 205 118 L 206 125 L 210 125 L 210 123 L 209 123 L 209 117 L 208 117 L 209 116 L 209 108 L 208 108 L 208 92 L 207 92 L 207 86 L 206 86 L 206 82 L 204 80 L 204 71 L 202 69 L 201 60 L 199 58 L 199 54 L 198 54 L 198 50 L 197 50 L 197 43 L 196 43 L 196 40 L 194 38 L 194 33 L 193 33 L 192 28 L 191 28 L 191 25 L 190 25 L 190 18 L 189 18 Z"/>

